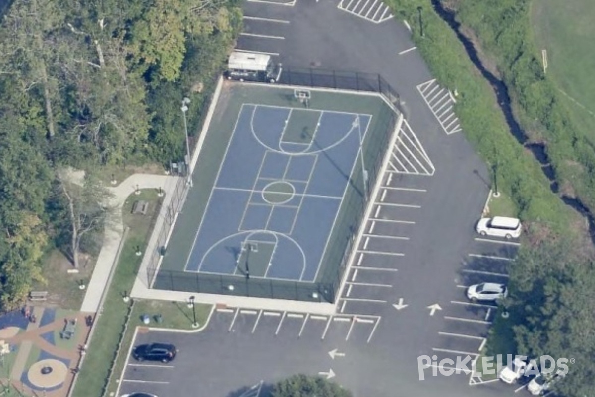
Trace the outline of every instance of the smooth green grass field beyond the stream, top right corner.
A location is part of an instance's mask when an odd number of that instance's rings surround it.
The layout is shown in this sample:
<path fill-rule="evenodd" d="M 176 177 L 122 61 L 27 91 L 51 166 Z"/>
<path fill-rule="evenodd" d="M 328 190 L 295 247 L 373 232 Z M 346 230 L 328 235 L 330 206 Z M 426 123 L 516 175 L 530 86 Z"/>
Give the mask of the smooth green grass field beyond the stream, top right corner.
<path fill-rule="evenodd" d="M 531 24 L 538 48 L 547 50 L 549 79 L 560 90 L 572 122 L 595 143 L 595 2 L 531 2 Z"/>

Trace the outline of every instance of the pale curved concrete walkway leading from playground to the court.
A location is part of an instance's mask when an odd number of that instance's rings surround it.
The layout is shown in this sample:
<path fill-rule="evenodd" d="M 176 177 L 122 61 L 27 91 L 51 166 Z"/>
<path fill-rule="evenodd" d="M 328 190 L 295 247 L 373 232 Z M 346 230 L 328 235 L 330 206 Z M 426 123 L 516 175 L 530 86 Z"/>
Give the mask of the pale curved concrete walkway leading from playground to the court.
<path fill-rule="evenodd" d="M 133 194 L 136 189 L 158 189 L 161 187 L 164 196 L 164 203 L 162 208 L 167 207 L 171 192 L 173 192 L 176 182 L 179 177 L 155 174 L 134 174 L 129 176 L 120 185 L 109 187 L 113 193 L 110 200 L 115 211 L 111 215 L 111 219 L 105 229 L 104 244 L 99 251 L 99 256 L 93 269 L 93 274 L 87 292 L 84 295 L 83 304 L 80 311 L 83 312 L 97 312 L 101 304 L 101 297 L 104 290 L 108 287 L 109 274 L 115 266 L 114 260 L 118 252 L 118 246 L 124 233 L 124 221 L 122 218 L 122 207 L 124 202 Z"/>

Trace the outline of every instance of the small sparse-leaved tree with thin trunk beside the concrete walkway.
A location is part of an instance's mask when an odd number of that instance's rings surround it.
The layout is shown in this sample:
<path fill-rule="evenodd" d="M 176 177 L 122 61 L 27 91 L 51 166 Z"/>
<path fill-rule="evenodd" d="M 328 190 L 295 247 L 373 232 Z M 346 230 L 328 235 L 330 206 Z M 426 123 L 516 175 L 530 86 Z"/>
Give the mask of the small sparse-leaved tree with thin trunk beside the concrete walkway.
<path fill-rule="evenodd" d="M 85 174 L 82 185 L 65 171 L 58 173 L 58 181 L 70 220 L 70 243 L 66 251 L 74 267 L 78 268 L 82 239 L 87 234 L 101 232 L 108 220 L 111 193 L 92 173 Z"/>

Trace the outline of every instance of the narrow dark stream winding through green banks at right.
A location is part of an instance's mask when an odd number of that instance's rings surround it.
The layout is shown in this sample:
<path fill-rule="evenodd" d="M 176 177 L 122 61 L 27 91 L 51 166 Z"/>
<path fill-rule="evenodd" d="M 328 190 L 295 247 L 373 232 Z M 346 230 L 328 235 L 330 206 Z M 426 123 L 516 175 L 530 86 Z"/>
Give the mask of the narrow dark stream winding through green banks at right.
<path fill-rule="evenodd" d="M 552 165 L 550 164 L 549 158 L 547 157 L 546 148 L 543 143 L 531 143 L 529 142 L 528 136 L 525 131 L 521 128 L 518 121 L 516 121 L 514 114 L 512 112 L 512 105 L 511 105 L 511 97 L 508 95 L 508 87 L 506 87 L 505 83 L 502 80 L 498 79 L 491 73 L 489 70 L 484 67 L 483 62 L 481 61 L 475 46 L 465 35 L 461 33 L 461 24 L 459 24 L 455 20 L 455 13 L 453 11 L 447 10 L 443 7 L 440 0 L 432 0 L 432 5 L 434 7 L 434 11 L 451 27 L 451 29 L 456 33 L 456 36 L 461 41 L 462 45 L 465 47 L 465 51 L 469 56 L 469 59 L 475 64 L 478 68 L 482 76 L 490 83 L 491 87 L 496 93 L 496 98 L 498 100 L 498 104 L 500 109 L 506 118 L 506 123 L 508 124 L 509 131 L 511 132 L 512 136 L 521 143 L 525 148 L 527 148 L 536 160 L 541 164 L 541 170 L 543 171 L 544 175 L 550 181 L 550 189 L 553 193 L 556 193 L 560 196 L 564 204 L 568 205 L 579 214 L 581 214 L 585 221 L 588 223 L 589 233 L 591 237 L 591 241 L 595 244 L 595 217 L 589 211 L 587 207 L 577 198 L 560 194 L 559 193 L 559 186 L 558 181 L 556 181 L 556 174 L 553 170 Z"/>

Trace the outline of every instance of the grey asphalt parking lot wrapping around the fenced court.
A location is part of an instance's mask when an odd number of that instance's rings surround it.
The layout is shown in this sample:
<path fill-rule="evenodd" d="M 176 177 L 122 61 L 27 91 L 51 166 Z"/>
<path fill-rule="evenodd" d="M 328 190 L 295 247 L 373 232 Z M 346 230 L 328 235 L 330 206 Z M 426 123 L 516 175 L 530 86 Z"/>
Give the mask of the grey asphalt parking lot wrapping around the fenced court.
<path fill-rule="evenodd" d="M 465 289 L 506 283 L 506 265 L 519 246 L 474 232 L 490 177 L 452 123 L 456 96 L 433 82 L 405 25 L 374 0 L 243 7 L 237 49 L 293 67 L 380 73 L 399 91 L 406 123 L 335 315 L 228 308 L 196 334 L 139 334 L 137 343 L 172 342 L 180 354 L 170 366 L 129 363 L 120 395 L 258 397 L 257 390 L 300 372 L 332 374 L 357 397 L 527 393 L 515 393 L 520 384 L 484 383 L 465 373 L 431 376 L 428 369 L 419 380 L 421 355 L 477 356 L 496 310 L 469 302 Z"/>

